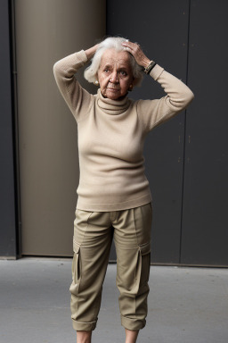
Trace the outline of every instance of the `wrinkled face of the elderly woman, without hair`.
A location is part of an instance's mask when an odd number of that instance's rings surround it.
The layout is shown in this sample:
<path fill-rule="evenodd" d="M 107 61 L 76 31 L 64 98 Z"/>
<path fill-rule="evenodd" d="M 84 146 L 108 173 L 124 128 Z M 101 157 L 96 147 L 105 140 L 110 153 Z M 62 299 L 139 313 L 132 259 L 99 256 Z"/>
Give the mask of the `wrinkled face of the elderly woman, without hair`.
<path fill-rule="evenodd" d="M 102 96 L 112 100 L 126 96 L 134 80 L 129 54 L 115 49 L 106 50 L 102 55 L 98 80 Z"/>

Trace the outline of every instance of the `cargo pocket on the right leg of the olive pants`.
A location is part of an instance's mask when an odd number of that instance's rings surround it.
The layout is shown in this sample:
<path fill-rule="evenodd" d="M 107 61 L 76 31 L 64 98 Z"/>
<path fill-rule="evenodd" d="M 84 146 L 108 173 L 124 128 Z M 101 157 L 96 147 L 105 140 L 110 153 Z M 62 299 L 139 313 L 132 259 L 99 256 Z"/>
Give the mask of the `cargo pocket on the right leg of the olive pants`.
<path fill-rule="evenodd" d="M 137 293 L 141 292 L 147 283 L 150 276 L 151 265 L 151 241 L 139 246 L 138 262 L 136 268 L 136 289 Z"/>

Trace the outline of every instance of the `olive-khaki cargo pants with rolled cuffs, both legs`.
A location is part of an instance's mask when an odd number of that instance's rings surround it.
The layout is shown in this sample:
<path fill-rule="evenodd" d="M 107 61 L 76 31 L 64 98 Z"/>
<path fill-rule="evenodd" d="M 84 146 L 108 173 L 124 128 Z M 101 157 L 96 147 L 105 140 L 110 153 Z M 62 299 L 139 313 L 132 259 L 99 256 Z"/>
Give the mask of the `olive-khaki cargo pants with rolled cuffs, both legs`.
<path fill-rule="evenodd" d="M 114 212 L 76 210 L 72 263 L 71 318 L 75 330 L 94 330 L 102 299 L 112 237 L 117 252 L 121 323 L 145 326 L 151 263 L 151 203 Z"/>

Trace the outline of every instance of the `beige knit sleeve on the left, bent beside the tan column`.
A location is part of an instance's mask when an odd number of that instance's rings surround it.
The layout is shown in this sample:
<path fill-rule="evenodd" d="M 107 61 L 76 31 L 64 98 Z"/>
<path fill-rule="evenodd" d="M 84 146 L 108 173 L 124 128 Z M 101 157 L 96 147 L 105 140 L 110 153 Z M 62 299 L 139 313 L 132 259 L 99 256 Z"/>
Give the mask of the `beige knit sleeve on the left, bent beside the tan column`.
<path fill-rule="evenodd" d="M 87 62 L 85 51 L 62 58 L 53 65 L 53 74 L 61 95 L 66 101 L 76 121 L 81 119 L 90 109 L 93 96 L 82 88 L 75 77 L 75 73 Z"/>

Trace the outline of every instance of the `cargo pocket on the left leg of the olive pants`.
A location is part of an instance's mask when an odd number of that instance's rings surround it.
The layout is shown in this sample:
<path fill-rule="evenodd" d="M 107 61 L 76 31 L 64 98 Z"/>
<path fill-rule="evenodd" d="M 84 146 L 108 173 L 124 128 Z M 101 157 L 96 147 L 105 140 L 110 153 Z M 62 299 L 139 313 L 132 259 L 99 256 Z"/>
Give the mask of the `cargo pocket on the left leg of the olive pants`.
<path fill-rule="evenodd" d="M 80 246 L 77 244 L 75 238 L 73 238 L 74 257 L 72 261 L 72 283 L 69 291 L 71 294 L 77 296 L 80 280 L 81 280 L 81 258 L 80 258 Z"/>

